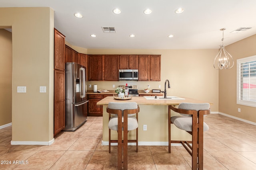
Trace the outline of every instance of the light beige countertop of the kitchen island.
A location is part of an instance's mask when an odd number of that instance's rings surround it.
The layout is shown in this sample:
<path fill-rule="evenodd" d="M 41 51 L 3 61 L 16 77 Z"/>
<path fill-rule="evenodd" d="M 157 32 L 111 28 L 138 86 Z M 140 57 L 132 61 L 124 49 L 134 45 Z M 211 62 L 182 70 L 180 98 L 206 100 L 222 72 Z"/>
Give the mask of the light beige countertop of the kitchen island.
<path fill-rule="evenodd" d="M 112 96 L 108 96 L 99 102 L 97 102 L 97 105 L 108 105 L 109 102 L 136 102 L 137 104 L 143 104 L 143 105 L 178 105 L 181 102 L 188 102 L 188 103 L 204 103 L 203 101 L 181 97 L 185 100 L 149 100 L 142 96 L 133 96 L 130 100 L 115 100 Z"/>

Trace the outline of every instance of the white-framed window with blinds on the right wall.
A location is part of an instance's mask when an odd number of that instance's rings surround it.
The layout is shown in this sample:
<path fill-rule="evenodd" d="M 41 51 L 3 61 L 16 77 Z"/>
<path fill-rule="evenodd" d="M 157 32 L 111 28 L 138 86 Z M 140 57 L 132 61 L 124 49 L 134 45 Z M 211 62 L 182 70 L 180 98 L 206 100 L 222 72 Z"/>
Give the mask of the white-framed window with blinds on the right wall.
<path fill-rule="evenodd" d="M 255 66 L 245 67 L 248 68 L 246 70 L 248 73 L 241 71 L 243 64 L 248 62 L 255 64 L 256 55 L 236 61 L 236 104 L 256 107 L 256 73 L 250 73 L 250 71 L 255 72 L 255 69 L 251 69 Z"/>

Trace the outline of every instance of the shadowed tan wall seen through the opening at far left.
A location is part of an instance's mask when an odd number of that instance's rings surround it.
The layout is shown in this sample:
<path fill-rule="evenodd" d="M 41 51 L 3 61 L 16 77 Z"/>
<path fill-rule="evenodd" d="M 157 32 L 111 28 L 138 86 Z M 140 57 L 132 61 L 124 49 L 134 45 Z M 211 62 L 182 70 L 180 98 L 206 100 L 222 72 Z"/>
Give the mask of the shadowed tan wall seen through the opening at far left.
<path fill-rule="evenodd" d="M 0 126 L 12 123 L 12 33 L 0 29 Z"/>

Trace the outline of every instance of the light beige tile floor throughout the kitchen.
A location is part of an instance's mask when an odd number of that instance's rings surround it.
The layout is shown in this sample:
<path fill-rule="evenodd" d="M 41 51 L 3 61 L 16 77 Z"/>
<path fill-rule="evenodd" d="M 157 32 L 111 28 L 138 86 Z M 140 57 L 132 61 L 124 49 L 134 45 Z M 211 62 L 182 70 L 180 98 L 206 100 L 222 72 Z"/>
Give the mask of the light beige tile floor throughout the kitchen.
<path fill-rule="evenodd" d="M 205 170 L 256 170 L 256 126 L 219 114 L 205 117 Z M 74 132 L 62 132 L 50 146 L 10 145 L 12 127 L 0 129 L 0 169 L 4 170 L 115 170 L 117 149 L 102 146 L 102 117 L 88 121 Z M 180 146 L 128 147 L 128 169 L 189 170 L 191 156 Z M 11 160 L 11 164 L 4 161 Z M 24 160 L 24 164 L 13 161 Z M 27 161 L 27 162 L 26 162 Z M 27 163 L 27 164 L 26 164 Z"/>

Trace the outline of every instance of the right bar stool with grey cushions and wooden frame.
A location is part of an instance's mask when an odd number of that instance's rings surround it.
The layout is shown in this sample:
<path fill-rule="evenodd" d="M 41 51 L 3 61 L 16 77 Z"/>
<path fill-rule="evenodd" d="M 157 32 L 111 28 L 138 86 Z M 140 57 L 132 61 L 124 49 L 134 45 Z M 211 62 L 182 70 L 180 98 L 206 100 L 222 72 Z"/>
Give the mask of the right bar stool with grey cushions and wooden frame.
<path fill-rule="evenodd" d="M 180 113 L 171 117 L 171 110 Z M 204 123 L 204 115 L 210 114 L 210 104 L 208 103 L 180 103 L 178 108 L 168 106 L 168 145 L 171 152 L 171 143 L 181 143 L 182 146 L 192 156 L 192 170 L 203 170 L 204 153 L 204 131 L 209 129 Z M 192 135 L 192 141 L 172 141 L 171 123 Z M 189 144 L 192 143 L 192 146 Z"/>

